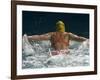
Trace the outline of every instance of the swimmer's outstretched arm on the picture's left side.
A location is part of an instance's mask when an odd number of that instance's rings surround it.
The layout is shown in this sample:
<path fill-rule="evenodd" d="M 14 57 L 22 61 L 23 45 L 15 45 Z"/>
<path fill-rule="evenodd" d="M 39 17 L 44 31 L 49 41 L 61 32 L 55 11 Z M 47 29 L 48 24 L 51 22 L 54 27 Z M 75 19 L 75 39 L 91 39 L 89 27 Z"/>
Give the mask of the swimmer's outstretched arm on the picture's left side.
<path fill-rule="evenodd" d="M 28 36 L 29 40 L 49 40 L 51 37 L 51 33 L 46 33 L 42 35 L 32 35 Z"/>

